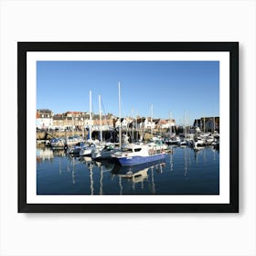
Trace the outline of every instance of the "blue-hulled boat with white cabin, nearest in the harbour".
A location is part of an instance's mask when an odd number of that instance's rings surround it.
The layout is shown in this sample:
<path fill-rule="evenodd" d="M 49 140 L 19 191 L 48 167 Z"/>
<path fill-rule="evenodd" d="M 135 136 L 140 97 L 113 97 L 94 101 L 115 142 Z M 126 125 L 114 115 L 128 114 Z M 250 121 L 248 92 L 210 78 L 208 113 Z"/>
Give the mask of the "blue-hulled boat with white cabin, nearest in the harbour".
<path fill-rule="evenodd" d="M 150 149 L 146 144 L 127 144 L 122 151 L 115 152 L 112 158 L 121 165 L 141 165 L 165 159 L 165 155 L 165 152 Z"/>

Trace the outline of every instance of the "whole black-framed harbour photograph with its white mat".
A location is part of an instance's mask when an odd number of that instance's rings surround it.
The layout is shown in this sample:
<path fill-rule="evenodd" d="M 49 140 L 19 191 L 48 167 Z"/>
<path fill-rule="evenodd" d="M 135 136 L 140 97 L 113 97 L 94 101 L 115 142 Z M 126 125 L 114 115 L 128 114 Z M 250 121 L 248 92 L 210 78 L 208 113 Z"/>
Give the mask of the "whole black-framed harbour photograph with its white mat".
<path fill-rule="evenodd" d="M 239 212 L 238 42 L 18 42 L 18 212 Z"/>

